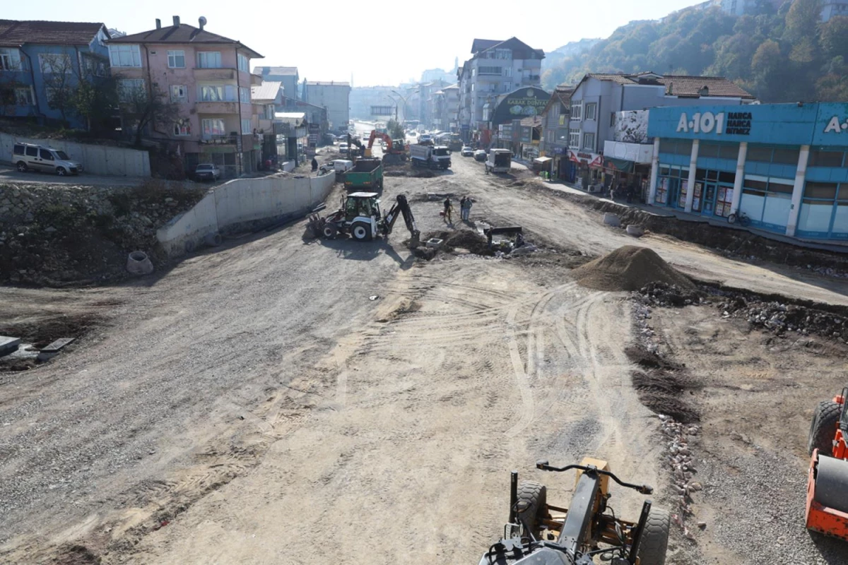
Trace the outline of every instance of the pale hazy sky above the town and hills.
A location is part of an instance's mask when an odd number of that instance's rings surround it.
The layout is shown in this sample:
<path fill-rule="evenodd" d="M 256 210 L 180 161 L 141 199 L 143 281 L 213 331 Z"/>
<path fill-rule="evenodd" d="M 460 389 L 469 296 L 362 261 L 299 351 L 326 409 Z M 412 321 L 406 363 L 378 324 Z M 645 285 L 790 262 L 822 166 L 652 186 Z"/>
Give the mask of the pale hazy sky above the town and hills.
<path fill-rule="evenodd" d="M 253 65 L 296 66 L 300 79 L 350 80 L 354 86 L 397 85 L 424 69 L 453 69 L 470 57 L 471 41 L 516 36 L 545 52 L 583 37 L 606 37 L 632 19 L 657 19 L 697 0 L 598 0 L 524 4 L 521 0 L 0 0 L 4 19 L 102 21 L 132 34 L 170 25 L 171 17 L 243 42 L 265 56 Z"/>

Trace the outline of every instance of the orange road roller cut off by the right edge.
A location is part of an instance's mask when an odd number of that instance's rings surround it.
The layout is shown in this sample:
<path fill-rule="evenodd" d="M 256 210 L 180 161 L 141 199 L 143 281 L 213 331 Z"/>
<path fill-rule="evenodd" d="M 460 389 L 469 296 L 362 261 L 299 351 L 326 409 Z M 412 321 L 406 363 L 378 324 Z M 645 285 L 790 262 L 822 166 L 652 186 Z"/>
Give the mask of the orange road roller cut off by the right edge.
<path fill-rule="evenodd" d="M 812 414 L 806 527 L 848 541 L 848 388 Z"/>

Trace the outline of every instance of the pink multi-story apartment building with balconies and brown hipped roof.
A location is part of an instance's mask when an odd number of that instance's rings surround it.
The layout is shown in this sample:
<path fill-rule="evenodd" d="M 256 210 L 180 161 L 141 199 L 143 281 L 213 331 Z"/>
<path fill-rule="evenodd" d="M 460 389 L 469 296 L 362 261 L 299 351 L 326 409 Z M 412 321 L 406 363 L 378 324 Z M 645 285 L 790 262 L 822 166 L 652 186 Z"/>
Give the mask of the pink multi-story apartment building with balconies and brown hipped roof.
<path fill-rule="evenodd" d="M 250 74 L 250 59 L 262 56 L 205 30 L 205 18 L 198 23 L 174 16 L 163 27 L 157 19 L 153 30 L 107 42 L 124 129 L 141 123 L 144 108 L 157 111 L 143 137 L 180 155 L 187 172 L 197 163 L 215 163 L 227 176 L 251 172 L 262 139 L 250 88 L 262 79 Z"/>

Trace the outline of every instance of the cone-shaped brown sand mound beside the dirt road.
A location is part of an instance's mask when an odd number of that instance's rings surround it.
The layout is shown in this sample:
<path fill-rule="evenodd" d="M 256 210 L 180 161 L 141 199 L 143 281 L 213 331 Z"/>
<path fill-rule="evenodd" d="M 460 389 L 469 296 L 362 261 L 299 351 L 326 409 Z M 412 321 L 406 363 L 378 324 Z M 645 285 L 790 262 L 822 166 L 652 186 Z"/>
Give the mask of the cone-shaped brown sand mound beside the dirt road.
<path fill-rule="evenodd" d="M 623 246 L 572 271 L 577 283 L 598 291 L 637 291 L 651 282 L 694 288 L 685 275 L 672 268 L 653 249 Z"/>

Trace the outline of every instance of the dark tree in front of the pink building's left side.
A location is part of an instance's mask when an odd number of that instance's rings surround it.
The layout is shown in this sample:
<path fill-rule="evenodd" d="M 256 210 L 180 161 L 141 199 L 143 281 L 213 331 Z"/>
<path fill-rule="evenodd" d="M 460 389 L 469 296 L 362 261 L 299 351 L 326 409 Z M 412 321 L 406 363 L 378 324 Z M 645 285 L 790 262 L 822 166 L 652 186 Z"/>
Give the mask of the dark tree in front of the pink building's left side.
<path fill-rule="evenodd" d="M 141 146 L 144 130 L 156 125 L 171 128 L 180 118 L 180 107 L 170 102 L 166 92 L 158 86 L 148 86 L 141 79 L 118 79 L 116 94 L 120 107 L 121 121 L 131 126 L 136 146 Z M 170 130 L 169 130 L 170 131 Z"/>

